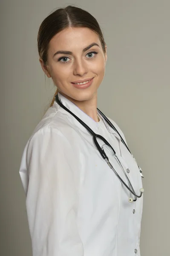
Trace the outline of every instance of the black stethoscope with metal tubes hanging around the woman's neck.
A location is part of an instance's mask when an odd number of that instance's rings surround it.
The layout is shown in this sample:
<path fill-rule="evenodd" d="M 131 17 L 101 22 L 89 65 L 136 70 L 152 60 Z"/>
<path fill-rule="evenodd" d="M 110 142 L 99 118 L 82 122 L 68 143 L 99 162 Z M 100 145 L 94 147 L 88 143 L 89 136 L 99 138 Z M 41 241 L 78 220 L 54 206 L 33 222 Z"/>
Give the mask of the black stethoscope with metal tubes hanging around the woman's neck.
<path fill-rule="evenodd" d="M 113 170 L 113 172 L 115 173 L 115 175 L 118 177 L 118 179 L 121 181 L 121 183 L 135 196 L 135 198 L 129 198 L 128 201 L 130 203 L 132 203 L 133 201 L 136 201 L 137 198 L 141 198 L 143 192 L 144 192 L 144 189 L 141 188 L 139 191 L 140 191 L 140 195 L 137 195 L 135 193 L 135 190 L 133 189 L 133 186 L 130 182 L 130 179 L 129 177 L 127 176 L 127 173 L 126 171 L 124 170 L 124 167 L 122 166 L 120 160 L 118 159 L 117 155 L 116 155 L 116 152 L 114 150 L 114 148 L 112 148 L 112 146 L 107 142 L 107 140 L 104 139 L 103 136 L 99 135 L 99 134 L 95 134 L 94 131 L 92 131 L 91 128 L 89 128 L 88 125 L 86 125 L 80 118 L 78 118 L 78 116 L 76 116 L 74 113 L 72 113 L 68 108 L 66 108 L 62 103 L 61 101 L 58 99 L 58 94 L 55 96 L 55 100 L 56 102 L 58 103 L 58 105 L 61 106 L 61 108 L 65 109 L 67 112 L 69 112 L 72 116 L 75 117 L 75 119 L 78 120 L 78 122 L 81 123 L 81 125 L 84 126 L 84 128 L 87 129 L 87 131 L 89 131 L 90 134 L 92 134 L 93 136 L 93 140 L 94 140 L 94 143 L 99 151 L 99 153 L 101 154 L 101 156 L 104 158 L 104 160 L 107 162 L 108 166 Z M 118 135 L 120 136 L 121 138 L 121 142 L 126 146 L 127 150 L 130 152 L 130 149 L 128 148 L 127 144 L 124 142 L 123 138 L 121 137 L 121 135 L 119 134 L 119 132 L 117 131 L 117 129 L 115 128 L 115 126 L 109 121 L 109 119 L 97 108 L 98 112 L 101 114 L 101 116 L 104 118 L 104 120 L 110 125 L 110 127 L 118 133 Z M 102 140 L 105 144 L 101 147 L 97 141 L 97 138 L 99 138 L 100 140 Z M 127 182 L 129 183 L 129 186 L 127 186 L 127 184 L 124 182 L 124 180 L 122 180 L 122 178 L 118 175 L 118 173 L 116 172 L 116 170 L 113 168 L 112 164 L 109 162 L 109 158 L 107 157 L 107 154 L 105 153 L 104 151 L 104 146 L 107 146 L 107 150 L 108 150 L 108 147 L 109 149 L 111 149 L 111 153 L 112 153 L 112 156 L 115 158 L 115 160 L 117 161 L 117 163 L 119 164 L 119 166 L 121 167 L 122 171 L 124 172 L 124 175 L 127 179 Z M 130 154 L 133 156 L 133 154 L 130 152 Z M 134 160 L 135 160 L 135 157 L 133 156 Z M 136 160 L 135 160 L 136 162 Z M 136 162 L 137 163 L 137 162 Z M 138 164 L 137 164 L 138 165 Z M 142 175 L 142 170 L 141 168 L 138 166 L 138 169 L 139 169 L 139 172 L 141 173 L 141 177 L 144 177 Z"/>

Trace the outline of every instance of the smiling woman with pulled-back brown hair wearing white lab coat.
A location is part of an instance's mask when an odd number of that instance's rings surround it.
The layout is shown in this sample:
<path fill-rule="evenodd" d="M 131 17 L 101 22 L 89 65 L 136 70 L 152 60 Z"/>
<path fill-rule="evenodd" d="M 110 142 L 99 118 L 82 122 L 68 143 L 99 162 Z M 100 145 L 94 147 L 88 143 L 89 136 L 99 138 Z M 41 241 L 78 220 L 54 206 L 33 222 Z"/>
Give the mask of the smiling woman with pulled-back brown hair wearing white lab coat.
<path fill-rule="evenodd" d="M 20 166 L 33 256 L 139 256 L 143 196 L 133 201 L 101 157 L 92 134 L 60 105 L 108 141 L 140 194 L 141 175 L 121 141 L 124 135 L 97 110 L 107 61 L 98 22 L 67 6 L 43 20 L 37 41 L 41 67 L 58 89 L 26 144 Z M 106 144 L 100 138 L 98 143 Z M 127 183 L 112 151 L 107 146 L 103 150 Z"/>

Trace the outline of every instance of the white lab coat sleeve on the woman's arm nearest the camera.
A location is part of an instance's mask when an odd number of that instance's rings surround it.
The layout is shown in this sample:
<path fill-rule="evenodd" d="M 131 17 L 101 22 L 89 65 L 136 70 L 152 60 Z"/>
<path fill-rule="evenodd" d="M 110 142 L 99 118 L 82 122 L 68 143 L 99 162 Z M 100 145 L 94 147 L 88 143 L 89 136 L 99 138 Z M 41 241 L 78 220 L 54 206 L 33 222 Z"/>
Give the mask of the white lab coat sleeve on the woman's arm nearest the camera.
<path fill-rule="evenodd" d="M 83 256 L 78 233 L 78 153 L 57 129 L 41 129 L 27 150 L 26 209 L 33 256 Z"/>

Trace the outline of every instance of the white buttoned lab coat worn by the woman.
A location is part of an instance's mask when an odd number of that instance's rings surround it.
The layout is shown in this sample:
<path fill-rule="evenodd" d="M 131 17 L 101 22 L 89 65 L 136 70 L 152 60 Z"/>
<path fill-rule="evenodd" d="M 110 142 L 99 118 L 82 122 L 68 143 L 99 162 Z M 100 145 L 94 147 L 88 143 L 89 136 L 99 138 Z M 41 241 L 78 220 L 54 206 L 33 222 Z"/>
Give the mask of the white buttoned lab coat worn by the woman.
<path fill-rule="evenodd" d="M 58 96 L 112 145 L 125 170 L 130 169 L 128 175 L 139 194 L 142 182 L 138 166 L 118 134 L 99 113 L 100 122 L 95 122 L 61 93 Z M 127 182 L 115 159 L 108 157 Z M 20 177 L 33 256 L 140 256 L 143 196 L 128 202 L 132 195 L 101 157 L 92 135 L 57 102 L 26 144 Z"/>

